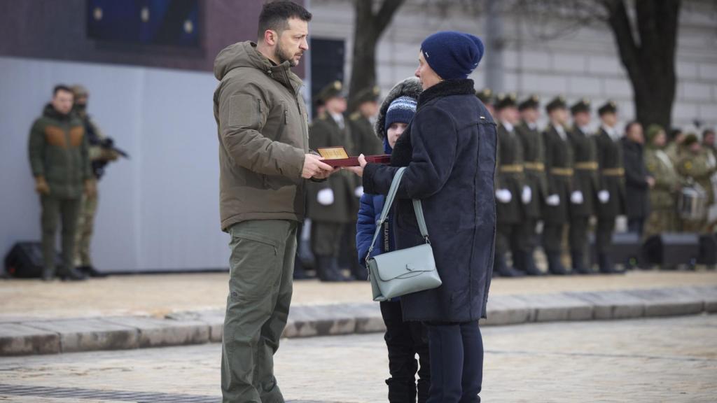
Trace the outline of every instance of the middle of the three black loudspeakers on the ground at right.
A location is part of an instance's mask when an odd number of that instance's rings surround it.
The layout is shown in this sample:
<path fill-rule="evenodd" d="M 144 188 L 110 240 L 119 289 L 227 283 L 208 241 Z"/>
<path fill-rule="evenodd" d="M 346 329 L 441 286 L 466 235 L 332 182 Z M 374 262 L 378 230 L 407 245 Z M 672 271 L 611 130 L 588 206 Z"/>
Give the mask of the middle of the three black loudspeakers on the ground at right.
<path fill-rule="evenodd" d="M 642 250 L 653 265 L 695 265 L 700 257 L 700 236 L 674 232 L 654 235 Z"/>

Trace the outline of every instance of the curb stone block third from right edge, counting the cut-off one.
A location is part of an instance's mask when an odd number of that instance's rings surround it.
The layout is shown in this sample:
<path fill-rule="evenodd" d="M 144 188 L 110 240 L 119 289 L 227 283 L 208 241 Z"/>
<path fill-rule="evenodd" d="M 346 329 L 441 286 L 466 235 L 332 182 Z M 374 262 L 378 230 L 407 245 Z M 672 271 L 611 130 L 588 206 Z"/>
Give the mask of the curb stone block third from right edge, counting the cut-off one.
<path fill-rule="evenodd" d="M 622 291 L 565 293 L 565 295 L 591 304 L 594 319 L 626 319 L 645 316 L 645 301 Z"/>

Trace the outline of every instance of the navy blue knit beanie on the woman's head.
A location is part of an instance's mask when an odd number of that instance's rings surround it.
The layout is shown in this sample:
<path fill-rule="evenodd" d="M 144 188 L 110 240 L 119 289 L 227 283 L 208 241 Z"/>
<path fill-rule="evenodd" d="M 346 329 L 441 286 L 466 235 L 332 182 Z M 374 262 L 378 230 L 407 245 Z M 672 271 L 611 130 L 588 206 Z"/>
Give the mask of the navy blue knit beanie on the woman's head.
<path fill-rule="evenodd" d="M 424 39 L 421 52 L 443 80 L 467 78 L 483 58 L 479 37 L 456 31 L 436 32 Z"/>

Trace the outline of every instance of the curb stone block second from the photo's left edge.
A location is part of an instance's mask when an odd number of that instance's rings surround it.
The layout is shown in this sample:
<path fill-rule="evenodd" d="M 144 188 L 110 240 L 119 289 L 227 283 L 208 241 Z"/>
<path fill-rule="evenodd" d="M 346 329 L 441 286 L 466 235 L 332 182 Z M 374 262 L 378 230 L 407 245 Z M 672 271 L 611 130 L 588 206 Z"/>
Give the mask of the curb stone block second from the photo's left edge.
<path fill-rule="evenodd" d="M 60 351 L 136 349 L 139 332 L 136 328 L 102 319 L 70 319 L 62 321 L 31 321 L 25 326 L 60 333 Z"/>

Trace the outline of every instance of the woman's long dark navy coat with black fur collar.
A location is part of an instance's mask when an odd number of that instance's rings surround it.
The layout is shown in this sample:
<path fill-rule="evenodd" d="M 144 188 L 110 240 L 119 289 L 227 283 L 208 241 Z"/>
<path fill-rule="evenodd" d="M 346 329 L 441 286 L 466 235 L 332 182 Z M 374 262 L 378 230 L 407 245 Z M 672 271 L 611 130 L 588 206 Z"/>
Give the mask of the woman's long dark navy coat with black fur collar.
<path fill-rule="evenodd" d="M 404 295 L 404 321 L 467 322 L 485 318 L 495 247 L 495 123 L 475 97 L 473 80 L 425 90 L 412 123 L 394 146 L 391 166 L 369 164 L 364 191 L 387 194 L 407 166 L 397 194 L 397 249 L 420 245 L 411 199 L 421 199 L 443 284 Z"/>

